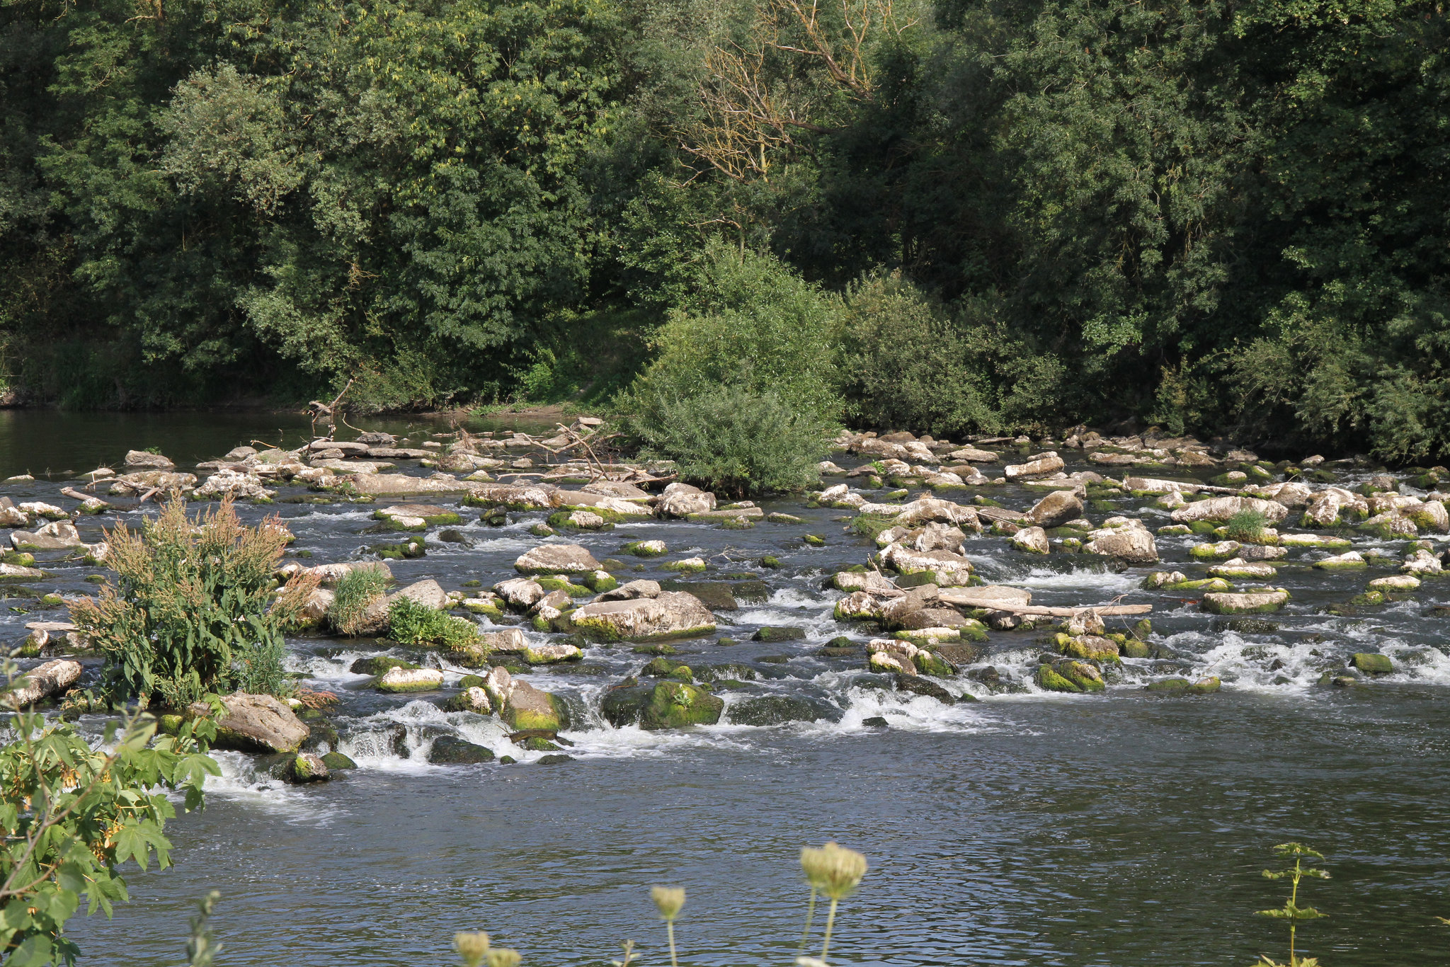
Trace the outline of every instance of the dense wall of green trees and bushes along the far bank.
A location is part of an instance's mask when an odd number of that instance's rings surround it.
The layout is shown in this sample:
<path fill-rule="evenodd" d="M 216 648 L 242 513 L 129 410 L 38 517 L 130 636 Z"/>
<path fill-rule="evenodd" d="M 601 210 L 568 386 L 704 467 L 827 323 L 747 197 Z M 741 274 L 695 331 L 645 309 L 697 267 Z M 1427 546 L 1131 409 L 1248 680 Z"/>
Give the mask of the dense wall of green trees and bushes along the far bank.
<path fill-rule="evenodd" d="M 32 399 L 358 375 L 438 404 L 613 391 L 652 355 L 625 399 L 708 370 L 883 426 L 1450 451 L 1443 0 L 0 19 L 0 332 Z"/>

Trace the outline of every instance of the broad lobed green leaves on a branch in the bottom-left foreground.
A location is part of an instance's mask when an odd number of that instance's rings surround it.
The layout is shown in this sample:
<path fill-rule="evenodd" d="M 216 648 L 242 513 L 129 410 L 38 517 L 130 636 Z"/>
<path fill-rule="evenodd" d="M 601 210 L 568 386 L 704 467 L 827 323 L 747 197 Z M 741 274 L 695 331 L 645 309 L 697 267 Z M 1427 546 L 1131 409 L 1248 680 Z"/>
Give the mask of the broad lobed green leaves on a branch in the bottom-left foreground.
<path fill-rule="evenodd" d="M 107 723 L 97 748 L 64 722 L 10 705 L 13 738 L 0 748 L 0 948 L 7 966 L 71 964 L 80 951 L 64 928 L 81 899 L 87 913 L 110 916 L 129 899 L 125 863 L 171 866 L 168 792 L 184 792 L 187 810 L 202 806 L 203 781 L 220 776 L 206 755 L 216 726 L 199 718 L 157 735 L 154 718 L 133 713 Z"/>

